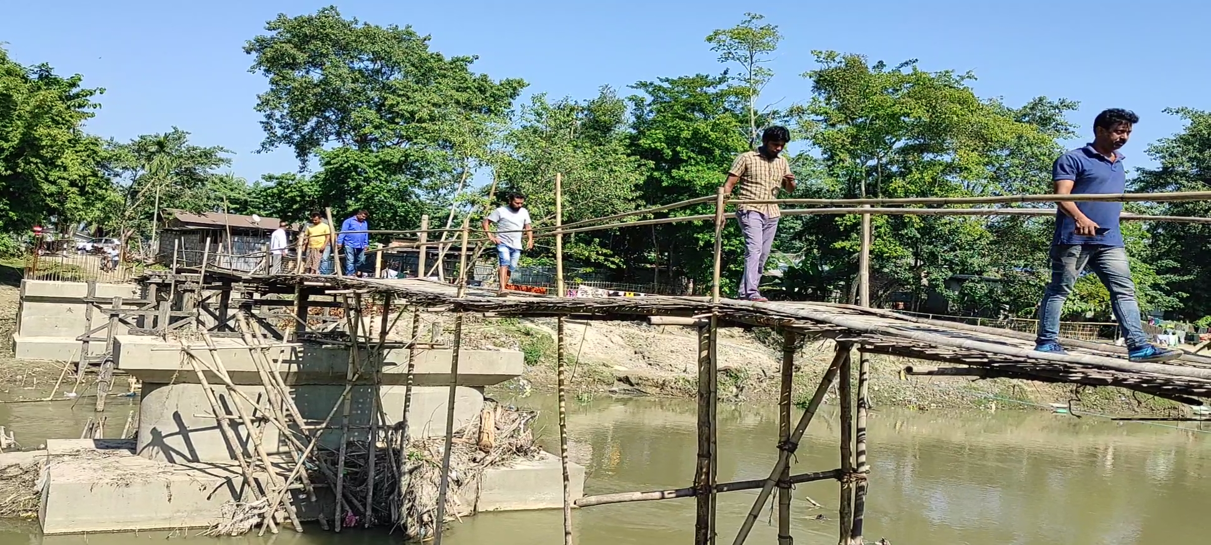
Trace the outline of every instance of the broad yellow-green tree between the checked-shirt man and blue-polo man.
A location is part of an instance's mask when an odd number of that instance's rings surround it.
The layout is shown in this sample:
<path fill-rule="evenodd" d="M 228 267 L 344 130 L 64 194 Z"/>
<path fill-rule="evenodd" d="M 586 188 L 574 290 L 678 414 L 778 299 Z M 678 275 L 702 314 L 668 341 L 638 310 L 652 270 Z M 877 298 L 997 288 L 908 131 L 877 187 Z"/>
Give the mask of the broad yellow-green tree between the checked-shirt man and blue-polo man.
<path fill-rule="evenodd" d="M 983 99 L 968 85 L 974 75 L 925 71 L 916 61 L 889 67 L 857 54 L 816 52 L 820 68 L 804 74 L 813 99 L 793 114 L 819 153 L 819 178 L 800 193 L 857 196 L 974 196 L 1040 190 L 1060 153 L 1056 138 L 1071 134 L 1062 113 L 1071 101 L 1037 98 L 1022 108 Z M 788 222 L 785 245 L 819 248 L 803 268 L 827 274 L 797 279 L 815 285 L 815 297 L 856 289 L 857 216 L 809 216 Z M 1041 287 L 1044 230 L 1031 222 L 977 217 L 888 216 L 873 218 L 872 296 L 923 296 L 955 274 L 1011 277 Z M 802 247 L 802 246 L 800 246 Z M 1038 259 L 1041 253 L 1041 259 Z M 791 271 L 798 275 L 802 271 Z M 970 297 L 1003 311 L 1032 311 L 1035 297 L 1005 300 L 966 282 Z M 960 293 L 952 297 L 964 297 Z"/>

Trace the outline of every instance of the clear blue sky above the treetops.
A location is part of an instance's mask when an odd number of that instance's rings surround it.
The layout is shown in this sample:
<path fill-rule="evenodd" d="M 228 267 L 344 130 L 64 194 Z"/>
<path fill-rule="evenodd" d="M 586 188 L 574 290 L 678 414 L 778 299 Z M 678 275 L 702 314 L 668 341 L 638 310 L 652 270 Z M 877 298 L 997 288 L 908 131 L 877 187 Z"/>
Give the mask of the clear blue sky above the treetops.
<path fill-rule="evenodd" d="M 245 40 L 279 12 L 334 4 L 214 0 L 5 2 L 0 41 L 18 62 L 47 62 L 105 87 L 90 131 L 119 139 L 176 125 L 203 145 L 233 151 L 237 174 L 257 179 L 297 167 L 292 154 L 256 154 L 253 111 L 265 79 L 247 71 Z M 638 80 L 717 73 L 704 38 L 756 11 L 785 34 L 764 99 L 809 97 L 799 78 L 811 50 L 863 53 L 928 70 L 974 70 L 981 96 L 1018 105 L 1034 96 L 1079 101 L 1083 133 L 1103 108 L 1142 117 L 1126 154 L 1147 164 L 1147 143 L 1181 130 L 1167 107 L 1211 109 L 1201 44 L 1211 8 L 1190 1 L 1057 2 L 848 1 L 747 4 L 658 1 L 342 1 L 342 12 L 375 24 L 412 24 L 446 54 L 478 54 L 475 68 L 522 78 L 528 92 L 584 98 L 602 85 L 626 93 Z M 1074 140 L 1077 145 L 1083 140 Z"/>

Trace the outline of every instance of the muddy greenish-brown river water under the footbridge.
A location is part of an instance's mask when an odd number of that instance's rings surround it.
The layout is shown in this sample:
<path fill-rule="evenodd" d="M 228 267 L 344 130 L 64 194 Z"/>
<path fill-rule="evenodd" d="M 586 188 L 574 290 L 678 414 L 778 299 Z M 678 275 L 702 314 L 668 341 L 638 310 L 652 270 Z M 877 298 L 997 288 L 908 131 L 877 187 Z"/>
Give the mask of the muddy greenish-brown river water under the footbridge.
<path fill-rule="evenodd" d="M 557 446 L 555 400 L 506 400 L 546 412 L 540 435 Z M 110 406 L 110 421 L 127 405 Z M 81 402 L 0 406 L 0 421 L 22 442 L 79 436 L 92 407 Z M 821 418 L 823 417 L 823 418 Z M 721 481 L 759 478 L 775 461 L 777 414 L 768 406 L 719 408 Z M 590 494 L 688 486 L 694 467 L 694 402 L 598 398 L 569 405 L 572 454 L 589 470 Z M 1211 426 L 1207 428 L 1211 430 Z M 794 471 L 838 465 L 836 409 L 826 407 L 809 429 Z M 867 541 L 924 544 L 1195 544 L 1211 535 L 1211 434 L 1045 412 L 909 412 L 877 408 L 871 417 L 873 475 Z M 837 543 L 838 487 L 796 489 L 797 544 Z M 823 504 L 811 510 L 803 495 Z M 756 492 L 719 495 L 719 543 L 730 543 Z M 817 521 L 817 515 L 823 521 Z M 693 499 L 603 505 L 578 510 L 581 545 L 693 543 Z M 558 510 L 480 514 L 448 530 L 448 545 L 562 543 Z M 767 507 L 751 544 L 775 543 Z M 173 538 L 206 541 L 191 533 Z M 398 533 L 316 527 L 276 537 L 223 538 L 256 545 L 385 545 Z M 163 540 L 165 532 L 41 537 L 33 523 L 0 524 L 0 545 L 125 545 Z"/>

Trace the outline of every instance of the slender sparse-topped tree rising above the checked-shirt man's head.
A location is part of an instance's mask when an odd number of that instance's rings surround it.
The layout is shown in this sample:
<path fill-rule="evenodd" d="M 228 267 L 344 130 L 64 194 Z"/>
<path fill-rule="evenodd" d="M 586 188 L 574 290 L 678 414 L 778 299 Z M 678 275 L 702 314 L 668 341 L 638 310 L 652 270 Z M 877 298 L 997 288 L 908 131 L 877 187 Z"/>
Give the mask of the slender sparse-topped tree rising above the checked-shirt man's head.
<path fill-rule="evenodd" d="M 764 18 L 765 16 L 758 13 L 745 13 L 745 19 L 740 24 L 717 29 L 706 36 L 711 51 L 719 53 L 721 63 L 734 63 L 740 68 L 740 75 L 731 78 L 731 81 L 739 84 L 737 91 L 744 96 L 748 110 L 750 148 L 756 148 L 761 142 L 757 97 L 765 88 L 765 84 L 774 78 L 774 70 L 764 64 L 771 61 L 770 56 L 777 51 L 777 44 L 782 41 L 782 34 L 777 31 L 776 25 L 758 24 Z"/>

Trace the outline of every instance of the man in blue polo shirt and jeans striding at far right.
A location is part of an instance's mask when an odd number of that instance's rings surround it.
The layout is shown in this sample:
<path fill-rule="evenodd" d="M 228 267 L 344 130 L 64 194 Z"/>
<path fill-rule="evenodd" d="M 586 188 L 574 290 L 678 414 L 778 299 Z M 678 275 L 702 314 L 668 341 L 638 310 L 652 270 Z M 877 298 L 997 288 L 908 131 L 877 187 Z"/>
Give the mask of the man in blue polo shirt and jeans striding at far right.
<path fill-rule="evenodd" d="M 1140 117 L 1114 108 L 1094 119 L 1094 142 L 1060 156 L 1051 168 L 1057 195 L 1120 194 L 1126 190 L 1126 171 L 1118 150 L 1131 137 Z M 1034 350 L 1064 354 L 1060 346 L 1060 314 L 1085 265 L 1094 269 L 1110 293 L 1110 306 L 1123 329 L 1127 357 L 1138 362 L 1169 361 L 1181 350 L 1148 343 L 1140 321 L 1140 304 L 1127 253 L 1119 230 L 1121 202 L 1058 203 L 1056 230 L 1051 239 L 1051 283 L 1039 305 L 1039 334 Z"/>

